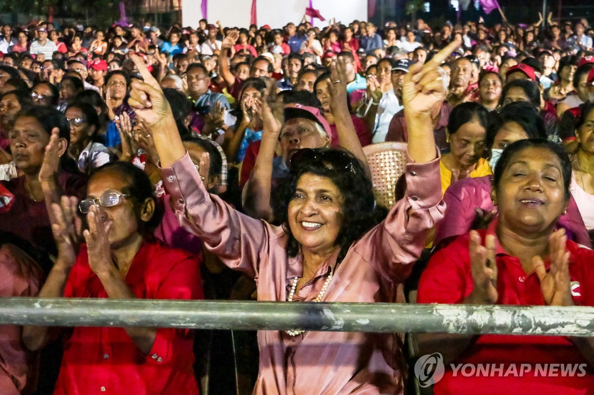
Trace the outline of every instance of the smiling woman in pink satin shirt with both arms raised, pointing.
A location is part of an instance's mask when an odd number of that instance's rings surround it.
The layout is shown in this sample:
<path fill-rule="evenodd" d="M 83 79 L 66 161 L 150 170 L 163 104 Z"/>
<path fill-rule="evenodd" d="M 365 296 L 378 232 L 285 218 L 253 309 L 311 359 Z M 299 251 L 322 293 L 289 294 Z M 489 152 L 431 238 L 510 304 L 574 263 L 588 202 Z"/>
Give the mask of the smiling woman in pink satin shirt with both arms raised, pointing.
<path fill-rule="evenodd" d="M 381 222 L 371 180 L 357 159 L 360 145 L 352 145 L 355 151 L 358 148 L 353 154 L 330 148 L 292 152 L 287 157 L 289 176 L 277 202 L 282 225 L 274 226 L 207 193 L 178 133 L 170 132 L 175 120 L 159 84 L 136 57 L 132 59 L 145 83 L 134 83 L 131 104 L 153 130 L 161 178 L 182 226 L 198 235 L 225 265 L 254 278 L 258 300 L 394 302 L 397 284 L 409 275 L 428 230 L 443 216 L 430 110 L 444 98 L 437 67 L 457 46 L 453 42 L 424 66 L 412 66 L 405 77 L 403 98 L 410 128 L 407 195 Z M 346 108 L 346 80 L 336 78 L 336 65 L 333 77 L 332 95 L 344 98 Z M 266 136 L 262 144 L 274 146 L 289 132 L 281 128 L 266 100 L 258 104 Z M 292 110 L 296 109 L 303 106 L 294 104 Z M 301 132 L 314 131 L 301 128 Z M 344 135 L 356 139 L 352 123 Z M 265 196 L 270 196 L 270 176 L 267 183 Z M 254 394 L 402 391 L 403 360 L 395 334 L 306 332 L 295 326 L 287 332 L 258 332 L 260 373 Z"/>

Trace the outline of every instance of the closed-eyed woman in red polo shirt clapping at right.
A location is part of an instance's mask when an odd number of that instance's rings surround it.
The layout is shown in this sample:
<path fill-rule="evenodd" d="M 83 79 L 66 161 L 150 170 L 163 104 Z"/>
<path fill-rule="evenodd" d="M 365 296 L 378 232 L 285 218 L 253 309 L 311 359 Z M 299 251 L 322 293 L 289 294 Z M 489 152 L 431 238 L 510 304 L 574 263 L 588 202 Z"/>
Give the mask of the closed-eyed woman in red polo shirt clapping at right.
<path fill-rule="evenodd" d="M 417 301 L 593 306 L 594 251 L 568 241 L 563 228 L 555 231 L 571 196 L 570 180 L 571 162 L 560 145 L 523 139 L 505 148 L 491 191 L 498 219 L 434 254 L 421 277 Z M 435 394 L 525 393 L 530 388 L 547 395 L 584 394 L 594 387 L 591 368 L 579 377 L 534 373 L 538 364 L 591 367 L 590 338 L 423 334 L 419 344 L 421 355 L 441 352 L 448 367 L 496 363 L 509 372 L 514 364 L 529 365 L 522 377 L 502 372 L 462 378 L 448 368 Z"/>

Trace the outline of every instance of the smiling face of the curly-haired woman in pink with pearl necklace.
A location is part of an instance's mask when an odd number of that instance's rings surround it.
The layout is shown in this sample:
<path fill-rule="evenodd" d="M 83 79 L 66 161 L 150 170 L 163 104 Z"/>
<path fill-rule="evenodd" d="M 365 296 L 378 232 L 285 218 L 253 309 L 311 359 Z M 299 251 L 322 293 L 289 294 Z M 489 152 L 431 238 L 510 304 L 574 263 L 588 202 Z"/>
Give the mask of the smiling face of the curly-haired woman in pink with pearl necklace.
<path fill-rule="evenodd" d="M 328 177 L 305 173 L 289 202 L 289 228 L 304 249 L 327 254 L 336 247 L 343 197 Z"/>

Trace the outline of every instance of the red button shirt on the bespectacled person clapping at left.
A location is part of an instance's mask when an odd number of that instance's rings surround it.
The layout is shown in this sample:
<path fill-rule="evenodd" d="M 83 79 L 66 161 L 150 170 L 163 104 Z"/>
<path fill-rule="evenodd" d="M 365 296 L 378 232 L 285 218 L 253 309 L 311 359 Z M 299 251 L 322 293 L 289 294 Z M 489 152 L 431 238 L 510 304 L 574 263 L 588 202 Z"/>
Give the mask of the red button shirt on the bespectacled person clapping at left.
<path fill-rule="evenodd" d="M 126 275 L 129 288 L 142 299 L 203 299 L 200 263 L 185 251 L 159 241 L 145 241 Z M 64 296 L 107 298 L 89 266 L 86 245 L 70 272 Z M 198 394 L 194 377 L 194 333 L 158 329 L 147 355 L 122 328 L 75 327 L 64 346 L 54 395 Z"/>

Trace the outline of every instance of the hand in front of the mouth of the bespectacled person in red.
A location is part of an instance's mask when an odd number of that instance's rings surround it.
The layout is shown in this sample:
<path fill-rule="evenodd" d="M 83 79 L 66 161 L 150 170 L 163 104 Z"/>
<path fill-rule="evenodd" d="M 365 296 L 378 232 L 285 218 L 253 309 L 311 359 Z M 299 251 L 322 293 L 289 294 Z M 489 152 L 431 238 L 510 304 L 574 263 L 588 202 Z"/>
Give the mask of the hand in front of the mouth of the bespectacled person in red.
<path fill-rule="evenodd" d="M 92 205 L 87 214 L 87 222 L 89 230 L 85 230 L 83 235 L 87 243 L 87 253 L 89 253 L 89 266 L 98 276 L 108 274 L 115 267 L 108 237 L 113 221 L 110 219 L 103 221 L 99 208 Z"/>

